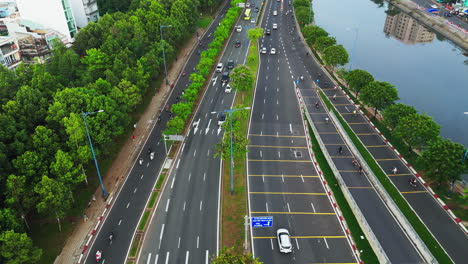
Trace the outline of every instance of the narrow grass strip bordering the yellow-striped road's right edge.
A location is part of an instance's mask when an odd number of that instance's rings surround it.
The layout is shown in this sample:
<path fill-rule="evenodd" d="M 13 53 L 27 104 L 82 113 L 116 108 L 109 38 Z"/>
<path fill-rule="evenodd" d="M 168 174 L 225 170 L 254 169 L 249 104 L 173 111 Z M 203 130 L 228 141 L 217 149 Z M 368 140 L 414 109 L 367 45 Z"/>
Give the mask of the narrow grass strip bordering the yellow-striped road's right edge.
<path fill-rule="evenodd" d="M 338 203 L 338 206 L 340 207 L 343 217 L 346 219 L 346 223 L 348 224 L 349 230 L 351 231 L 351 236 L 353 237 L 357 248 L 361 251 L 361 260 L 364 263 L 378 263 L 379 259 L 372 250 L 372 247 L 370 246 L 368 240 L 361 239 L 361 236 L 365 237 L 364 232 L 362 232 L 362 229 L 359 226 L 359 222 L 357 221 L 353 211 L 351 210 L 351 207 L 346 201 L 346 198 L 338 185 L 338 181 L 336 180 L 332 169 L 328 165 L 327 159 L 325 158 L 322 149 L 320 149 L 320 145 L 318 144 L 318 141 L 315 138 L 312 128 L 309 124 L 308 126 L 310 131 L 310 138 L 312 141 L 312 150 L 314 151 L 315 159 L 319 163 L 320 169 L 322 169 L 323 176 L 328 182 L 328 186 L 333 191 L 333 196 L 335 197 L 335 200 Z"/>

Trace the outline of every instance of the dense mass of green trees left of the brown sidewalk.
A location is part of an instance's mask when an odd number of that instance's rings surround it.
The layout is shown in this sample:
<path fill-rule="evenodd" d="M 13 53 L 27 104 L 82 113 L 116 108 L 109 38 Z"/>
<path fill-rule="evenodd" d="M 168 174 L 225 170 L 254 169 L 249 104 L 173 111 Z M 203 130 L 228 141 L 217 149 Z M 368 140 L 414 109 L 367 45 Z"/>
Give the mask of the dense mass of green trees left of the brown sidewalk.
<path fill-rule="evenodd" d="M 161 45 L 170 63 L 193 34 L 199 4 L 133 1 L 128 12 L 81 29 L 72 49 L 56 42 L 50 63 L 0 68 L 0 263 L 38 262 L 28 219 L 60 221 L 87 180 L 92 157 L 82 113 L 104 110 L 86 119 L 102 159 L 130 127 L 150 82 L 162 76 Z M 162 43 L 160 25 L 172 25 Z"/>

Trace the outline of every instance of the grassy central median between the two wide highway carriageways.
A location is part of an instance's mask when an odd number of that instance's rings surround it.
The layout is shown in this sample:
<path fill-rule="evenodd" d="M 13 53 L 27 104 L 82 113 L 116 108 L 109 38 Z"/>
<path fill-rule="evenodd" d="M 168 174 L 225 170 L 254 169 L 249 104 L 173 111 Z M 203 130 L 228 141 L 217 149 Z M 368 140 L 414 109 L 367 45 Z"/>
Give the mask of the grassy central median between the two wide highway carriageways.
<path fill-rule="evenodd" d="M 247 54 L 246 65 L 257 75 L 258 49 L 257 42 L 251 42 Z M 255 85 L 254 85 L 255 86 Z M 234 105 L 252 106 L 254 87 L 250 91 L 238 91 Z M 243 133 L 247 133 L 249 118 L 241 121 Z M 242 254 L 244 241 L 244 216 L 247 215 L 247 175 L 245 157 L 234 159 L 234 195 L 230 194 L 230 166 L 224 161 L 223 177 L 223 217 L 222 217 L 222 247 L 234 247 L 234 251 Z"/>

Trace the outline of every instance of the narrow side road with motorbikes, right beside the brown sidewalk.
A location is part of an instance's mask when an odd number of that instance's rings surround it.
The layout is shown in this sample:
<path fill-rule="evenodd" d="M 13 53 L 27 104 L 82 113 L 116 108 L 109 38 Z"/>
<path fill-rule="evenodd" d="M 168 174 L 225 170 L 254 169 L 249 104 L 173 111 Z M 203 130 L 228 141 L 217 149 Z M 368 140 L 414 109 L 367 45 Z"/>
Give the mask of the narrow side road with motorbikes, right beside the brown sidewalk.
<path fill-rule="evenodd" d="M 202 36 L 201 43 L 203 46 L 199 46 L 197 50 L 205 50 L 207 48 L 207 43 L 213 40 L 213 32 L 215 31 L 218 23 L 224 17 L 228 7 L 229 3 L 226 3 L 225 6 L 223 6 L 219 15 L 214 19 L 215 21 Z M 183 70 L 187 75 L 180 76 L 179 81 L 175 84 L 175 87 L 169 96 L 167 101 L 169 105 L 176 103 L 177 97 L 180 97 L 182 91 L 188 86 L 189 74 L 193 72 L 193 68 L 198 64 L 199 60 L 200 56 L 194 51 Z M 142 157 L 144 159 L 143 165 L 138 164 L 138 158 L 135 160 L 120 193 L 116 196 L 114 205 L 112 206 L 102 227 L 98 231 L 96 239 L 90 250 L 88 250 L 85 263 L 95 263 L 95 253 L 97 250 L 101 250 L 103 252 L 101 263 L 125 262 L 130 242 L 145 207 L 148 195 L 152 191 L 159 171 L 161 170 L 162 163 L 166 157 L 164 144 L 161 141 L 161 133 L 166 128 L 166 123 L 169 119 L 170 114 L 163 111 L 160 116 L 160 120 L 154 120 L 155 126 L 153 127 L 150 136 L 148 137 L 147 142 L 145 142 L 138 157 Z M 149 160 L 147 153 L 148 148 L 151 148 L 155 152 L 155 157 L 152 161 Z M 180 217 L 182 218 L 182 214 Z M 110 232 L 114 233 L 112 243 L 109 243 L 108 240 Z"/>

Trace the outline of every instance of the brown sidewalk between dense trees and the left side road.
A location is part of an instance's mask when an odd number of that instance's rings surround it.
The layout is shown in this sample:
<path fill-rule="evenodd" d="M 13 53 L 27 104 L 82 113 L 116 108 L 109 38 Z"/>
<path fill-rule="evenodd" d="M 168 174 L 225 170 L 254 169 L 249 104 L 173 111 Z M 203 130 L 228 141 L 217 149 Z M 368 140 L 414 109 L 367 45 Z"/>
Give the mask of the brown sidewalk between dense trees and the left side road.
<path fill-rule="evenodd" d="M 198 29 L 197 33 L 202 35 L 204 31 L 205 29 Z M 197 42 L 197 34 L 195 33 L 182 49 L 180 49 L 177 55 L 178 59 L 168 69 L 168 79 L 170 83 L 176 82 L 185 62 L 189 58 L 190 52 L 197 46 Z M 105 189 L 109 193 L 109 197 L 120 189 L 125 177 L 128 175 L 128 170 L 131 168 L 132 162 L 136 159 L 140 147 L 144 143 L 146 137 L 148 137 L 151 128 L 154 126 L 154 120 L 162 109 L 169 92 L 170 86 L 165 85 L 163 82 L 159 87 L 159 91 L 154 94 L 145 112 L 141 115 L 135 130 L 129 135 L 120 153 L 105 174 L 103 181 Z M 132 139 L 132 136 L 135 136 L 135 139 Z M 96 200 L 93 201 L 93 199 L 91 199 L 89 207 L 84 211 L 84 214 L 87 215 L 89 220 L 84 221 L 82 218 L 82 221 L 76 224 L 70 237 L 65 242 L 62 252 L 57 256 L 54 263 L 76 263 L 76 259 L 80 256 L 83 245 L 86 243 L 90 232 L 93 230 L 98 222 L 98 218 L 106 207 L 106 202 L 101 198 L 100 188 L 96 190 L 94 196 Z"/>

